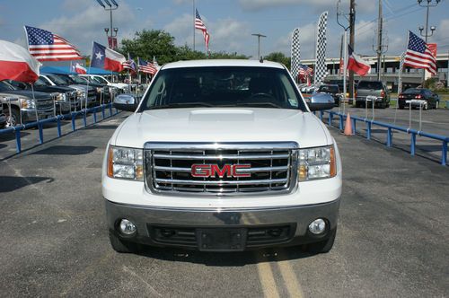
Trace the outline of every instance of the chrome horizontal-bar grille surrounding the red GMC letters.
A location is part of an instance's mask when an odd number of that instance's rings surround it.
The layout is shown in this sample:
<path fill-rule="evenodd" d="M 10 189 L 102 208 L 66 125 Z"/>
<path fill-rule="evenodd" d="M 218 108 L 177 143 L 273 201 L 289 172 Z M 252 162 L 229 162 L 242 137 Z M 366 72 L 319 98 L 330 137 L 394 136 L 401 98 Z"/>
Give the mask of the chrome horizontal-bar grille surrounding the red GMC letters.
<path fill-rule="evenodd" d="M 289 192 L 295 187 L 298 145 L 294 142 L 263 144 L 145 145 L 146 186 L 154 193 L 193 195 L 263 195 Z M 250 165 L 240 173 L 250 177 L 193 177 L 192 165 Z"/>

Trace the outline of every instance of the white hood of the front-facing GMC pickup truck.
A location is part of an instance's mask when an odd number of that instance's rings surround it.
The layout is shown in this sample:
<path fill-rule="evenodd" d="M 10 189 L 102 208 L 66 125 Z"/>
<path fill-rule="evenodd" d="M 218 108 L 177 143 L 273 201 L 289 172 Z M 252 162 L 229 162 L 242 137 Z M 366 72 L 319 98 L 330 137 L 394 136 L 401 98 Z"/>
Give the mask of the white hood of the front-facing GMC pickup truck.
<path fill-rule="evenodd" d="M 145 142 L 282 142 L 330 145 L 329 131 L 313 113 L 261 108 L 145 110 L 128 117 L 111 145 L 142 148 Z"/>

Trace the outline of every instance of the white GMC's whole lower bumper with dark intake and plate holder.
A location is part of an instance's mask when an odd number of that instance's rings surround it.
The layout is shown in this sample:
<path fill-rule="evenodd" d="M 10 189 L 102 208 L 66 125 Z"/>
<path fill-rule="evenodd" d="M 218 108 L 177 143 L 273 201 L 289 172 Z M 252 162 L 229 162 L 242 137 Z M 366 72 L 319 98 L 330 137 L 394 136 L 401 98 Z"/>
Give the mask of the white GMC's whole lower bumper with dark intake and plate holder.
<path fill-rule="evenodd" d="M 123 241 L 213 251 L 323 241 L 337 228 L 339 201 L 308 206 L 218 210 L 129 206 L 105 200 L 110 232 Z M 134 235 L 119 232 L 119 221 L 124 218 L 136 224 Z M 317 218 L 323 218 L 327 223 L 327 230 L 321 235 L 308 231 L 309 223 Z"/>

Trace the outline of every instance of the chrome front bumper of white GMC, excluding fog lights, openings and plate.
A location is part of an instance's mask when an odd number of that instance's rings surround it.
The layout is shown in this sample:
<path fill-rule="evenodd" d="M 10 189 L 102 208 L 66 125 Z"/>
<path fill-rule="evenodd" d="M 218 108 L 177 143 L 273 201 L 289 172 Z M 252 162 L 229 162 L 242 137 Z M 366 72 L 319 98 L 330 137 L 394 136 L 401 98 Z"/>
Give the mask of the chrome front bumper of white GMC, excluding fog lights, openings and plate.
<path fill-rule="evenodd" d="M 242 250 L 257 249 L 269 246 L 291 246 L 322 241 L 337 228 L 340 199 L 329 203 L 310 206 L 281 206 L 250 209 L 189 209 L 152 206 L 129 206 L 110 202 L 106 203 L 106 216 L 110 232 L 126 241 L 153 246 L 181 247 L 201 250 L 199 240 L 193 243 L 161 242 L 154 238 L 154 227 L 169 229 L 216 229 L 238 228 L 242 231 L 255 227 L 286 226 L 290 236 L 280 241 L 260 244 L 246 244 Z M 133 237 L 123 236 L 118 232 L 121 219 L 128 219 L 136 224 L 137 232 Z M 327 221 L 328 232 L 314 236 L 308 232 L 308 225 L 317 218 Z M 243 232 L 244 234 L 244 232 Z"/>

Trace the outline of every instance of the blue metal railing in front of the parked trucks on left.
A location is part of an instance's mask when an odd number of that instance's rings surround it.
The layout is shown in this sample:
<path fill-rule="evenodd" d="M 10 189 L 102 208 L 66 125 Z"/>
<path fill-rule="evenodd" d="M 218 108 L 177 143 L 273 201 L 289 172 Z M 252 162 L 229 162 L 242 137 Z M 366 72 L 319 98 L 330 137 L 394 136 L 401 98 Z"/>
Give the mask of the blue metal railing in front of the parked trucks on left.
<path fill-rule="evenodd" d="M 109 113 L 108 113 L 109 115 L 107 115 L 106 110 L 109 110 Z M 21 131 L 22 130 L 31 128 L 31 127 L 38 127 L 39 143 L 43 144 L 44 143 L 44 127 L 43 127 L 44 124 L 56 122 L 57 123 L 57 137 L 61 137 L 61 136 L 63 136 L 62 129 L 61 129 L 61 125 L 62 125 L 61 120 L 70 119 L 72 122 L 72 131 L 75 131 L 76 130 L 76 123 L 75 123 L 76 116 L 82 115 L 83 116 L 83 124 L 84 124 L 83 127 L 87 127 L 87 125 L 88 125 L 87 114 L 93 113 L 92 114 L 93 115 L 93 123 L 92 124 L 94 124 L 94 123 L 98 122 L 97 113 L 100 111 L 101 111 L 101 120 L 103 120 L 105 118 L 110 118 L 119 113 L 119 110 L 117 110 L 117 109 L 115 110 L 115 112 L 112 111 L 112 103 L 101 104 L 100 106 L 89 108 L 89 109 L 73 111 L 68 114 L 57 115 L 56 117 L 52 117 L 52 118 L 40 119 L 39 121 L 22 124 L 22 125 L 16 126 L 16 127 L 7 127 L 4 129 L 0 129 L 0 135 L 14 133 L 15 134 L 15 152 L 21 153 L 22 152 L 22 141 L 21 141 Z"/>

